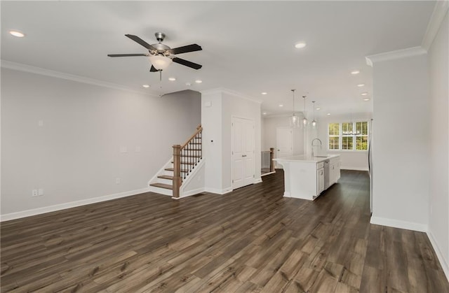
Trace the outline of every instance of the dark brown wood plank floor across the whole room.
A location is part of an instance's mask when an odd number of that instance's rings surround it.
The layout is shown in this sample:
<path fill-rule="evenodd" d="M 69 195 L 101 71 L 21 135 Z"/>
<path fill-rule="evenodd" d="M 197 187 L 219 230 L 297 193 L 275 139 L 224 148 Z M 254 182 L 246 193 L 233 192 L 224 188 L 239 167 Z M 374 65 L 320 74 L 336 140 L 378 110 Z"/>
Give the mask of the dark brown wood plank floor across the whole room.
<path fill-rule="evenodd" d="M 3 222 L 1 292 L 449 292 L 426 234 L 369 224 L 366 172 L 316 201 L 263 180 Z"/>

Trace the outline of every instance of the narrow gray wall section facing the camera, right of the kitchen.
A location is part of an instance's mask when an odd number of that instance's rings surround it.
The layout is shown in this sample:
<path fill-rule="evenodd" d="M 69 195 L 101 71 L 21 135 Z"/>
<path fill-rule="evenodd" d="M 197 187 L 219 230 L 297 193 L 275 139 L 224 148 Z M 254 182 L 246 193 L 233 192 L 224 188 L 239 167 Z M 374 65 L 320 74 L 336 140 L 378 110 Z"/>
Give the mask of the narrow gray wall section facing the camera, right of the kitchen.
<path fill-rule="evenodd" d="M 429 80 L 421 51 L 374 62 L 371 222 L 427 231 Z"/>

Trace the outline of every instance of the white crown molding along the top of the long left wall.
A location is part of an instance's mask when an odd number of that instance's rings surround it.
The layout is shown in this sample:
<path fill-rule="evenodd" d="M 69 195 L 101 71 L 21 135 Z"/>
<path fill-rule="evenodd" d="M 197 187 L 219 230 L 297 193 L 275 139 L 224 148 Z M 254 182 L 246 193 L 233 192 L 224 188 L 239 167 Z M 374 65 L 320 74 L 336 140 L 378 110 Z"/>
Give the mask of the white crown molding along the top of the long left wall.
<path fill-rule="evenodd" d="M 85 78 L 83 76 L 75 76 L 74 74 L 63 73 L 60 71 L 53 71 L 50 69 L 43 69 L 40 67 L 29 66 L 29 65 L 6 61 L 6 60 L 1 60 L 1 67 L 4 69 L 13 69 L 13 70 L 17 70 L 17 71 L 24 71 L 24 72 L 28 72 L 28 73 L 39 74 L 41 76 L 50 76 L 53 78 L 62 78 L 65 80 L 72 80 L 77 83 L 86 83 L 88 85 L 98 85 L 100 87 L 108 87 L 108 88 L 114 89 L 114 90 L 123 90 L 126 92 L 133 92 L 135 94 L 145 94 L 147 96 L 151 96 L 151 97 L 155 97 L 155 98 L 160 97 L 159 94 L 156 94 L 154 92 L 143 92 L 143 91 L 132 89 L 130 87 L 126 87 L 124 85 L 108 83 L 107 81 L 103 81 L 103 80 L 95 80 L 93 78 Z"/>

